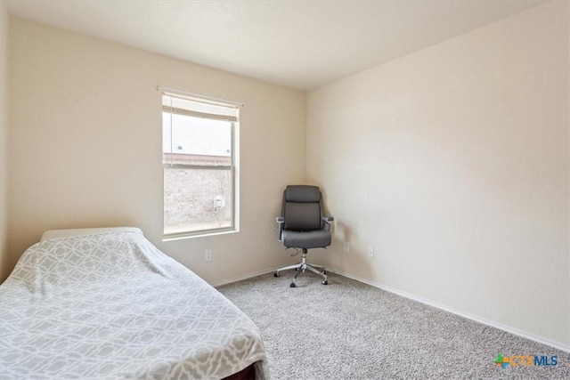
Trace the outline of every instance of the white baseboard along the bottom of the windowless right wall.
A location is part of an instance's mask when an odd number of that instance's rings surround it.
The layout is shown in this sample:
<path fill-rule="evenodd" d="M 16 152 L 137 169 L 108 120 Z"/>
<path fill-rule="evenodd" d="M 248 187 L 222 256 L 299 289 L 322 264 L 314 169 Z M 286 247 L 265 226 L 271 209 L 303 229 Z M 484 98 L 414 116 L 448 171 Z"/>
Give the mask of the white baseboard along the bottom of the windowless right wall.
<path fill-rule="evenodd" d="M 459 315 L 460 317 L 463 317 L 463 318 L 475 320 L 476 322 L 482 323 L 482 324 L 487 325 L 487 326 L 499 328 L 500 330 L 506 331 L 510 334 L 514 334 L 516 336 L 521 336 L 523 338 L 532 340 L 536 343 L 546 344 L 546 345 L 549 345 L 550 347 L 556 348 L 558 350 L 561 350 L 564 352 L 570 352 L 570 346 L 567 344 L 561 344 L 559 342 L 554 342 L 554 341 L 551 341 L 550 339 L 543 338 L 542 336 L 535 336 L 533 334 L 527 333 L 527 332 L 519 330 L 517 328 L 501 325 L 500 323 L 493 322 L 493 320 L 489 320 L 489 319 L 478 317 L 476 315 L 469 314 L 468 312 L 458 311 L 458 310 L 455 310 L 455 309 L 453 309 L 447 305 L 444 305 L 442 303 L 436 303 L 436 302 L 433 302 L 427 298 L 422 298 L 422 297 L 419 297 L 417 295 L 411 295 L 410 293 L 403 292 L 403 291 L 395 289 L 393 287 L 387 287 L 385 285 L 379 284 L 379 283 L 371 281 L 369 279 L 362 279 L 358 276 L 354 276 L 351 273 L 346 273 L 344 271 L 338 271 L 338 270 L 330 269 L 330 268 L 327 268 L 327 271 L 332 271 L 334 273 L 337 273 L 337 274 L 344 276 L 344 277 L 347 277 L 349 279 L 355 279 L 357 281 L 363 282 L 364 284 L 368 284 L 371 287 L 378 287 L 382 290 L 386 290 L 387 292 L 394 293 L 395 295 L 401 295 L 405 298 L 409 298 L 413 301 L 417 301 L 419 303 L 424 303 L 424 304 L 427 304 L 429 306 L 433 306 L 433 307 L 435 307 L 437 309 L 441 309 L 443 311 L 449 311 L 452 314 Z"/>

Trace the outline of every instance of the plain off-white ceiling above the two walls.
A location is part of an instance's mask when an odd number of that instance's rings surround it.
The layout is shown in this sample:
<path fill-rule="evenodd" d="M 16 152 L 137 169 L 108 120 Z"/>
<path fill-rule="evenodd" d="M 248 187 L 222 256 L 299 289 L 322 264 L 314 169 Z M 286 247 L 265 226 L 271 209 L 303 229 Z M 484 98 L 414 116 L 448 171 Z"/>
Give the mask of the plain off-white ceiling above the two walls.
<path fill-rule="evenodd" d="M 544 0 L 3 0 L 22 18 L 310 90 Z"/>

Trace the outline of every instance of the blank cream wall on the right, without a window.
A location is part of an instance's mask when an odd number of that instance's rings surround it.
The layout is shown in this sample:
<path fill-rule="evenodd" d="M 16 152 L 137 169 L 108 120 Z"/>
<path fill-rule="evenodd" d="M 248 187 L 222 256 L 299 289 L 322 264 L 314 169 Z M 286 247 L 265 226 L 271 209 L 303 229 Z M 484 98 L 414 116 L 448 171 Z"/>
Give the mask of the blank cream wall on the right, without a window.
<path fill-rule="evenodd" d="M 568 7 L 308 93 L 332 268 L 569 349 Z"/>

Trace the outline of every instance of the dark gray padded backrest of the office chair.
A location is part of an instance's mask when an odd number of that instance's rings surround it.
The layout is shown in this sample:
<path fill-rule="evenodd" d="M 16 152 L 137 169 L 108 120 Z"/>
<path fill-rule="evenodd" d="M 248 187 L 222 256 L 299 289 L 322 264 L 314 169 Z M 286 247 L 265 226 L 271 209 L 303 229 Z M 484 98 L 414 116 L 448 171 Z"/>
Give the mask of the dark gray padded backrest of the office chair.
<path fill-rule="evenodd" d="M 317 186 L 287 186 L 281 215 L 285 230 L 322 230 L 321 190 Z"/>

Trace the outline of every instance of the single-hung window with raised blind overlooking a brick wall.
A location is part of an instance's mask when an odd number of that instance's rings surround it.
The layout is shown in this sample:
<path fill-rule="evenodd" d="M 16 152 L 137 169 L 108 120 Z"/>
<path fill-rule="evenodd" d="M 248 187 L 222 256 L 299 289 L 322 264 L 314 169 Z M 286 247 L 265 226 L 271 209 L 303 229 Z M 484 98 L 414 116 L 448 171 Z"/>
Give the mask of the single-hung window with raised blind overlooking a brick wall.
<path fill-rule="evenodd" d="M 237 230 L 239 107 L 162 95 L 164 235 Z"/>

